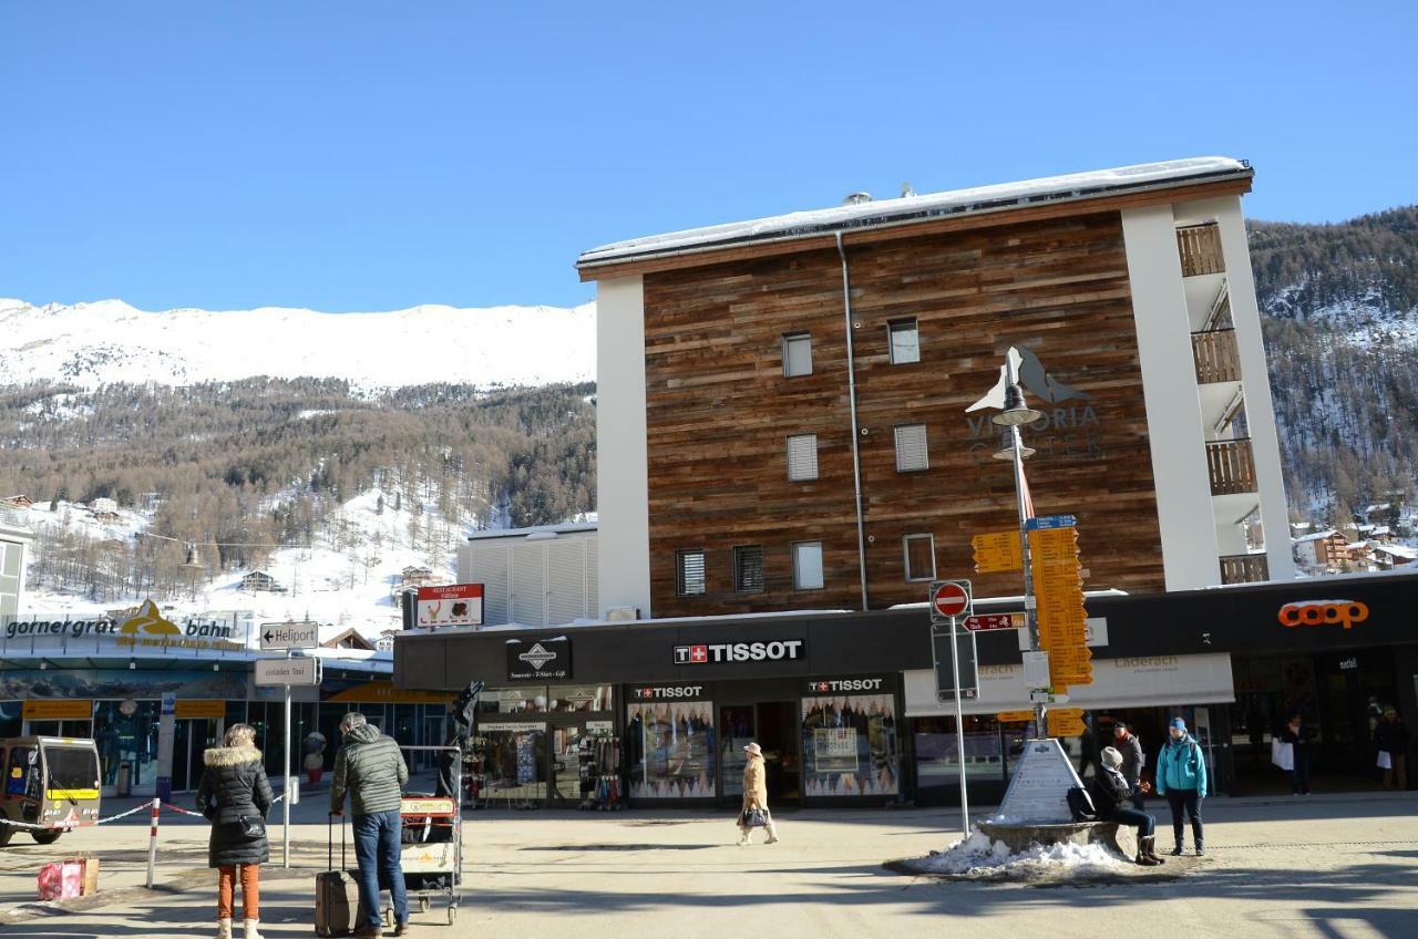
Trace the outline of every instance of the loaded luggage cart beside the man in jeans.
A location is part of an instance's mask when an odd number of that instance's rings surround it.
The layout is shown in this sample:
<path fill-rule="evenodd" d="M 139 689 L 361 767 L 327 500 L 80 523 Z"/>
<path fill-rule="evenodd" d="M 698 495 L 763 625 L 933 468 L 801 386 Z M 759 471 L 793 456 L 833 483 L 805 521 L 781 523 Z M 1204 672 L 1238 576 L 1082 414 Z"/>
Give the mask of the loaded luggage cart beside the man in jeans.
<path fill-rule="evenodd" d="M 410 915 L 414 909 L 427 913 L 438 901 L 447 901 L 448 925 L 458 919 L 462 887 L 462 748 L 458 746 L 400 746 L 400 750 L 423 750 L 452 756 L 452 796 L 434 793 L 406 793 L 398 810 L 398 862 L 408 875 L 445 877 L 447 884 L 434 888 L 407 888 Z M 406 840 L 408 835 L 411 840 Z M 389 926 L 394 925 L 393 901 L 386 905 L 387 892 L 380 891 L 380 911 Z"/>

